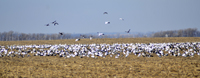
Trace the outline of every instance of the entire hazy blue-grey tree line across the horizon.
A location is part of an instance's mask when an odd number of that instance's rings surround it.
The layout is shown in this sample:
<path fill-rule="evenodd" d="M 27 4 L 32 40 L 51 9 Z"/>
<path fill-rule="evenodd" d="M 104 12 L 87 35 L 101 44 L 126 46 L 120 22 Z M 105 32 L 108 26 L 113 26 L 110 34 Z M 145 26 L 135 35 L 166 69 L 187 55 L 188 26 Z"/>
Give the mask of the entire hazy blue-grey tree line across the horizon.
<path fill-rule="evenodd" d="M 200 37 L 197 28 L 188 28 L 180 30 L 160 31 L 155 33 L 136 33 L 136 34 L 106 34 L 98 36 L 97 34 L 82 34 L 85 38 L 133 38 L 133 37 Z M 0 41 L 22 41 L 22 40 L 58 40 L 58 39 L 75 39 L 81 38 L 80 34 L 63 33 L 43 34 L 43 33 L 18 33 L 14 31 L 0 32 Z"/>

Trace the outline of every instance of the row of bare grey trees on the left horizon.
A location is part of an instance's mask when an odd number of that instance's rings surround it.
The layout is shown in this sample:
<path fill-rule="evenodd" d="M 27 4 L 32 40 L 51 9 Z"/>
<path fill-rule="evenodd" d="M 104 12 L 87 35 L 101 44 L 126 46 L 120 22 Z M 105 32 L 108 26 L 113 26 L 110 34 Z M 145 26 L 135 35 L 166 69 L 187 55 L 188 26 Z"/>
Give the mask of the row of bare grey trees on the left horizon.
<path fill-rule="evenodd" d="M 56 39 L 71 38 L 71 34 L 65 33 L 62 36 L 59 34 L 42 34 L 42 33 L 18 33 L 14 31 L 0 33 L 1 41 L 21 41 L 21 40 L 56 40 Z"/>

